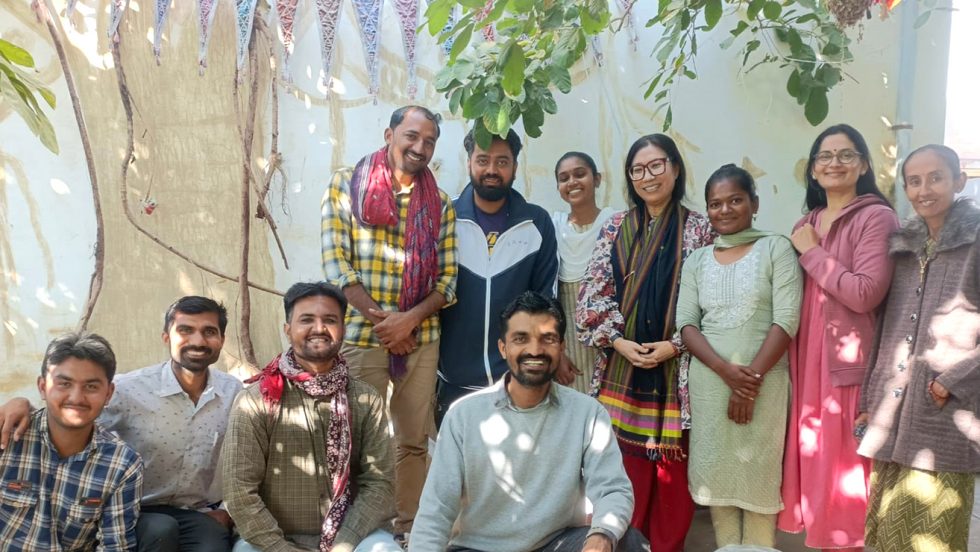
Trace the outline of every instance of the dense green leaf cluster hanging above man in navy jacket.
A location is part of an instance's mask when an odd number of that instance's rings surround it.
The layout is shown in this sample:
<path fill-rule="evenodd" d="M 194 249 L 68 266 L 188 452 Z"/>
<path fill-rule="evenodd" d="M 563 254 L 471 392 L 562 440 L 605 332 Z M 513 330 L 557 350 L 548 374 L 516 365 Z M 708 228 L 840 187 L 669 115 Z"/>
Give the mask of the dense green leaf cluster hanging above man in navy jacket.
<path fill-rule="evenodd" d="M 454 6 L 463 15 L 446 31 Z M 541 135 L 546 114 L 558 112 L 554 90 L 572 89 L 570 69 L 587 40 L 605 30 L 605 0 L 434 0 L 423 24 L 444 43 L 452 38 L 449 60 L 435 88 L 449 109 L 474 121 L 474 137 L 489 147 L 521 121 L 528 136 Z M 494 26 L 495 40 L 474 39 Z"/>

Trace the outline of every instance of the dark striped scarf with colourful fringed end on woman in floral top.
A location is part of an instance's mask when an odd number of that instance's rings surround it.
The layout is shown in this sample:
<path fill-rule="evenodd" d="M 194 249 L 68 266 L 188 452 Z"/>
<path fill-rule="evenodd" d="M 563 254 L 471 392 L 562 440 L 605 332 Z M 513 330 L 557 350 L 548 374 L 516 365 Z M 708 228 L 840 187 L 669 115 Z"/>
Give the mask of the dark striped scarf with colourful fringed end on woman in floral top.
<path fill-rule="evenodd" d="M 652 343 L 668 341 L 674 333 L 688 212 L 673 203 L 656 219 L 637 208 L 623 219 L 612 265 L 625 339 Z M 651 460 L 682 457 L 677 359 L 647 370 L 635 368 L 615 350 L 609 355 L 599 402 L 609 411 L 623 451 Z"/>

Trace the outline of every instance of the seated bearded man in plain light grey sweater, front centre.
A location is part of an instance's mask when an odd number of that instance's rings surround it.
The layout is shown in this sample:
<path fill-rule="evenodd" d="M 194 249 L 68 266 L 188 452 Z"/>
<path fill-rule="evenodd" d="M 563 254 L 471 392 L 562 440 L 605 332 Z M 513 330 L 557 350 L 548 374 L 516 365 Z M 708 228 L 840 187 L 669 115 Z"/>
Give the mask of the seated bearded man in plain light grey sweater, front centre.
<path fill-rule="evenodd" d="M 525 292 L 501 313 L 500 335 L 509 372 L 446 414 L 409 551 L 650 550 L 628 529 L 633 492 L 609 415 L 552 383 L 564 348 L 561 305 Z M 576 507 L 583 496 L 591 525 Z"/>

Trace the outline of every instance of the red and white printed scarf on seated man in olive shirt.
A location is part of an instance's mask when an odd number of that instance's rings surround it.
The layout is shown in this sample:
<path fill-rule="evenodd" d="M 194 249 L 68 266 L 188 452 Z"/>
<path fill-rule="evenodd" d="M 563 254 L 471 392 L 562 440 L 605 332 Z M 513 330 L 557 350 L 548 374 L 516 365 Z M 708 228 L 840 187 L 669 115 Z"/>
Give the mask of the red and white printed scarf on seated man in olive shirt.
<path fill-rule="evenodd" d="M 351 414 L 347 400 L 350 381 L 347 363 L 338 356 L 333 369 L 326 374 L 311 374 L 296 362 L 290 348 L 266 365 L 257 375 L 245 383 L 259 383 L 262 400 L 269 409 L 269 416 L 278 420 L 282 407 L 282 394 L 286 381 L 291 382 L 311 397 L 329 400 L 330 422 L 327 427 L 327 472 L 330 474 L 333 500 L 320 528 L 320 552 L 329 552 L 353 500 L 350 486 L 351 461 Z M 313 431 L 313 428 L 309 428 Z"/>

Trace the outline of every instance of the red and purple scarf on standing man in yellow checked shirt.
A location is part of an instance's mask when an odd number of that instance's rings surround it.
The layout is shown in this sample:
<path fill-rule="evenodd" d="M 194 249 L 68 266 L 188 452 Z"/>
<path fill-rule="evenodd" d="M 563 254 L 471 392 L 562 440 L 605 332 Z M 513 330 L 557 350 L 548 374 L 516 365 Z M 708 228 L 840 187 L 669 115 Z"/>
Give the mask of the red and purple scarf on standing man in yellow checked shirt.
<path fill-rule="evenodd" d="M 351 210 L 363 226 L 397 227 L 398 204 L 394 179 L 388 164 L 388 146 L 365 155 L 350 182 Z M 439 230 L 442 202 L 436 178 L 428 167 L 415 175 L 405 221 L 405 267 L 398 310 L 405 312 L 419 304 L 435 288 L 439 279 Z M 395 379 L 408 370 L 402 355 L 389 355 L 388 372 Z"/>

